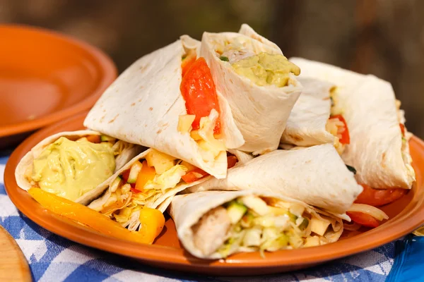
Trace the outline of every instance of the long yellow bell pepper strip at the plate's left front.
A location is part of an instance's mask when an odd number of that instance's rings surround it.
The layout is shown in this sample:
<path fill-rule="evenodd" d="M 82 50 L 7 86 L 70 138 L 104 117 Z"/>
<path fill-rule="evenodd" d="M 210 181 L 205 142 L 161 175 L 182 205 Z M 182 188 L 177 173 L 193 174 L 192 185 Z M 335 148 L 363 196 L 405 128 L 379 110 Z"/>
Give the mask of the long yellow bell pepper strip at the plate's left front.
<path fill-rule="evenodd" d="M 42 205 L 42 207 L 48 209 L 50 212 L 65 216 L 73 221 L 83 223 L 86 226 L 93 228 L 95 231 L 122 240 L 151 244 L 156 238 L 158 228 L 163 228 L 163 225 L 165 224 L 163 214 L 160 211 L 157 211 L 160 215 L 152 212 L 152 214 L 155 214 L 155 220 L 149 219 L 146 222 L 141 222 L 141 230 L 139 232 L 129 231 L 122 227 L 119 223 L 108 219 L 107 216 L 95 212 L 95 210 L 83 206 L 82 204 L 71 202 L 70 200 L 66 200 L 52 193 L 45 192 L 40 188 L 30 188 L 28 192 Z"/>

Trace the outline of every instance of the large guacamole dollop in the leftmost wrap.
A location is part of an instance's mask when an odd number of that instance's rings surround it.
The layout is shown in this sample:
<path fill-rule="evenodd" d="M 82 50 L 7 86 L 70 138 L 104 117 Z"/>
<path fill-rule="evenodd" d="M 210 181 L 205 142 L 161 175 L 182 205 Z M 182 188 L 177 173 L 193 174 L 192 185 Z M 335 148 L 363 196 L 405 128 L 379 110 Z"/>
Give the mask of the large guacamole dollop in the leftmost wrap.
<path fill-rule="evenodd" d="M 114 168 L 109 142 L 95 144 L 60 137 L 34 159 L 31 178 L 42 190 L 75 201 L 112 176 Z"/>

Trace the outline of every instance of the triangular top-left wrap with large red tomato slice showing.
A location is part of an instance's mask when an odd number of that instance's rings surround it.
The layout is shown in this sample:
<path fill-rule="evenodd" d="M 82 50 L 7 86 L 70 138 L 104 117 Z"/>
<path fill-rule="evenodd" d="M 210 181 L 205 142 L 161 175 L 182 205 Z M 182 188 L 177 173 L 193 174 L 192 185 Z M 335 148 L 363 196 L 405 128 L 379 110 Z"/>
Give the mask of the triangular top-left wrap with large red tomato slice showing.
<path fill-rule="evenodd" d="M 226 149 L 244 140 L 199 45 L 185 35 L 143 56 L 102 94 L 84 125 L 224 178 Z"/>

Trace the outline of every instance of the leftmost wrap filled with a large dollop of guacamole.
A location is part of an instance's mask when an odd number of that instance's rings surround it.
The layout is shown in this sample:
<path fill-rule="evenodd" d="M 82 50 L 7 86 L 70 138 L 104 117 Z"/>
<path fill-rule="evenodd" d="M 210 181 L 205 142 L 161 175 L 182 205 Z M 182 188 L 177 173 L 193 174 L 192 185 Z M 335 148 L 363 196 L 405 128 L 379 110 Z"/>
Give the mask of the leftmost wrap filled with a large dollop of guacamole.
<path fill-rule="evenodd" d="M 57 133 L 25 154 L 16 182 L 23 190 L 38 187 L 88 204 L 101 194 L 101 184 L 142 149 L 92 130 Z"/>

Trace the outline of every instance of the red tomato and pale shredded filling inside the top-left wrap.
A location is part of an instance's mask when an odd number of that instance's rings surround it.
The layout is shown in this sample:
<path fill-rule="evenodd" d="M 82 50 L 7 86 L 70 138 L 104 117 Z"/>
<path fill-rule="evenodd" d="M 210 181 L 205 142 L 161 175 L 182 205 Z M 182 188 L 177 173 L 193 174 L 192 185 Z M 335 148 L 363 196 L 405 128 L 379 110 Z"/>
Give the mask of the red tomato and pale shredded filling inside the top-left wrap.
<path fill-rule="evenodd" d="M 220 106 L 216 87 L 205 59 L 197 59 L 193 50 L 182 56 L 180 90 L 187 114 L 179 116 L 179 133 L 190 134 L 199 145 L 204 161 L 224 162 L 226 148 L 220 138 Z"/>

